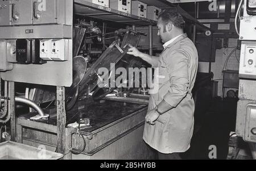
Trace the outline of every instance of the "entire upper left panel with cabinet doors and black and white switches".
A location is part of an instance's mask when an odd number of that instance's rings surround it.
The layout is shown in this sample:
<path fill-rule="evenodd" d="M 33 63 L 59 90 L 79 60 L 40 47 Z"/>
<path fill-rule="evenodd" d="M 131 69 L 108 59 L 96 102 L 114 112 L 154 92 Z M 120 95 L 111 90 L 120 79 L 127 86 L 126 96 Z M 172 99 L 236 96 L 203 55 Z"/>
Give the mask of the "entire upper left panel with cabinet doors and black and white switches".
<path fill-rule="evenodd" d="M 0 1 L 0 77 L 72 85 L 73 1 Z"/>

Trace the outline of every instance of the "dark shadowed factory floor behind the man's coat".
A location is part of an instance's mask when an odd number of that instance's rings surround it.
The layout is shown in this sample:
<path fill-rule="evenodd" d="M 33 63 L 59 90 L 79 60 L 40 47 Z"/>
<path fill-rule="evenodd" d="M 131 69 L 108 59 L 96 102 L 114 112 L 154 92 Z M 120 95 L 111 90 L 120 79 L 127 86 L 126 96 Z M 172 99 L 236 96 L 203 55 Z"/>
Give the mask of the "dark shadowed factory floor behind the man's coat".
<path fill-rule="evenodd" d="M 201 102 L 201 105 L 207 106 L 204 101 Z M 208 104 L 208 109 L 197 109 L 195 112 L 191 148 L 183 154 L 184 159 L 209 159 L 211 145 L 216 147 L 217 159 L 228 159 L 230 132 L 236 131 L 237 99 L 214 98 Z M 198 102 L 197 105 L 201 106 Z"/>

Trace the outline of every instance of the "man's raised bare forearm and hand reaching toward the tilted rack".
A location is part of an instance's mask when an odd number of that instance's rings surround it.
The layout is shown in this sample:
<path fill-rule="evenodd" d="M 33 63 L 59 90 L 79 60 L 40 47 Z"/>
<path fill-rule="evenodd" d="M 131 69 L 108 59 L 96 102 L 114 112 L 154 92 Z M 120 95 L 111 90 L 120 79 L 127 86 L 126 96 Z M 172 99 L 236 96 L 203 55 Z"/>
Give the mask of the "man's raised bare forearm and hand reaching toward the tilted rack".
<path fill-rule="evenodd" d="M 135 47 L 130 48 L 128 51 L 129 52 L 127 52 L 127 54 L 133 55 L 136 57 L 140 57 L 142 60 L 144 60 L 144 61 L 148 62 L 148 64 L 152 65 L 153 68 L 160 67 L 160 60 L 158 57 L 150 56 L 150 55 L 147 55 L 146 53 L 142 53 Z"/>

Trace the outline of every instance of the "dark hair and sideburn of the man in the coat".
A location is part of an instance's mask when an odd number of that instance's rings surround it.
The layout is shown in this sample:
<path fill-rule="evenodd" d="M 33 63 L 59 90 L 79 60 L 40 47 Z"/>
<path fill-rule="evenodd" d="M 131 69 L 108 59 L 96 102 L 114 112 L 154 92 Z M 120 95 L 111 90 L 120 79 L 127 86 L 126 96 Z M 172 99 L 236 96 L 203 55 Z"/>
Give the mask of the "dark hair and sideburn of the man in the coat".
<path fill-rule="evenodd" d="M 163 12 L 161 12 L 159 14 L 159 19 L 160 18 L 164 23 L 167 24 L 171 22 L 172 24 L 174 24 L 175 27 L 178 27 L 181 29 L 183 29 L 185 26 L 185 21 L 183 17 L 179 14 L 179 12 L 172 9 L 164 10 Z"/>

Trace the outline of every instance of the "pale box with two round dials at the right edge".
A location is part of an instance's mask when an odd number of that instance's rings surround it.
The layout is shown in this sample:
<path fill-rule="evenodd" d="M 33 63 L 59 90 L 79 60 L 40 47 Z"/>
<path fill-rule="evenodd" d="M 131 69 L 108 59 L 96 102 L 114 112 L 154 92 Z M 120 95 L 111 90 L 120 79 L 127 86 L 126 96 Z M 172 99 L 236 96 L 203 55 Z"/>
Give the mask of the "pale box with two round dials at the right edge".
<path fill-rule="evenodd" d="M 256 78 L 255 41 L 242 41 L 239 76 L 240 78 Z"/>

